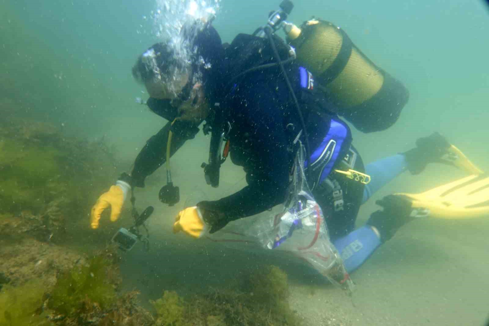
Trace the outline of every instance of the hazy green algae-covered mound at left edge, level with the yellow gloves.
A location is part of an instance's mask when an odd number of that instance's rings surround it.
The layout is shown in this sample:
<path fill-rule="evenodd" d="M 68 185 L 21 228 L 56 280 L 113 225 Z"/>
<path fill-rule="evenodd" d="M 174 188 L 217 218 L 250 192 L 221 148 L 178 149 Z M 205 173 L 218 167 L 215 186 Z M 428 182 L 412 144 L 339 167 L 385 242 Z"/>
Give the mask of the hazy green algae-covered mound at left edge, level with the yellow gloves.
<path fill-rule="evenodd" d="M 103 141 L 67 137 L 39 121 L 0 121 L 2 236 L 62 241 L 66 226 L 86 219 L 96 194 L 115 178 L 115 159 Z"/>

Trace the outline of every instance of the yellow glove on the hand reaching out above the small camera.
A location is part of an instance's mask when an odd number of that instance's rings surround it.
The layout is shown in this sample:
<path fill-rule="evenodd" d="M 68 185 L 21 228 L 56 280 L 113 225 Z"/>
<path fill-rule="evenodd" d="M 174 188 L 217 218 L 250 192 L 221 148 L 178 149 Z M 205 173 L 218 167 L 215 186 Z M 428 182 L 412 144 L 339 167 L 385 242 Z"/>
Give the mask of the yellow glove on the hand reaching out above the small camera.
<path fill-rule="evenodd" d="M 92 207 L 90 214 L 90 226 L 92 229 L 98 228 L 98 221 L 102 212 L 111 208 L 111 221 L 115 222 L 119 218 L 124 204 L 124 190 L 121 186 L 111 186 L 109 191 L 104 192 L 98 197 L 97 202 Z"/>

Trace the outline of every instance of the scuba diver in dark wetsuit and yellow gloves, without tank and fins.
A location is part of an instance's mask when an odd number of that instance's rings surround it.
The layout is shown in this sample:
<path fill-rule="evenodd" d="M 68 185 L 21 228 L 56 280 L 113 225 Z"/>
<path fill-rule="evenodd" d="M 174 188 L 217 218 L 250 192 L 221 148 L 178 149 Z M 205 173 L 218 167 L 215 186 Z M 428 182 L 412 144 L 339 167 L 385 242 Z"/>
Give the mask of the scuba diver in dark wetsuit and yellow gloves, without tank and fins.
<path fill-rule="evenodd" d="M 285 16 L 283 12 L 281 15 Z M 338 116 L 338 101 L 320 90 L 317 80 L 324 76 L 315 80 L 314 74 L 299 64 L 299 53 L 274 35 L 276 26 L 272 23 L 253 35 L 239 34 L 229 46 L 222 45 L 218 32 L 208 23 L 190 27 L 186 33 L 196 51 L 188 67 L 175 60 L 175 50 L 168 43 L 157 43 L 138 57 L 133 76 L 150 95 L 146 104 L 169 122 L 147 141 L 131 173 L 123 173 L 99 197 L 91 210 L 92 229 L 98 228 L 104 210 L 110 209 L 111 221 L 117 220 L 129 192 L 144 187 L 147 176 L 168 164 L 170 157 L 197 135 L 204 120 L 204 133 L 211 133 L 209 163 L 202 164 L 207 183 L 219 185 L 219 167 L 229 153 L 234 164 L 243 166 L 247 186 L 219 200 L 201 201 L 181 210 L 173 226 L 175 233 L 200 238 L 218 232 L 229 222 L 283 203 L 301 145 L 307 151 L 304 164 L 309 186 L 325 212 L 331 241 L 341 253 L 347 272 L 358 268 L 415 218 L 415 207 L 421 210 L 424 206 L 407 195 L 390 195 L 377 202 L 382 210 L 355 229 L 360 205 L 380 187 L 403 171 L 418 174 L 428 163 L 455 164 L 447 160 L 453 158 L 450 153 L 454 146 L 435 133 L 417 140 L 416 147 L 405 153 L 364 166 L 352 145 L 348 125 Z M 350 46 L 350 54 L 354 49 Z M 338 70 L 335 76 L 341 75 L 341 69 L 334 70 Z M 391 81 L 387 90 L 400 89 L 397 94 L 402 94 L 405 104 L 403 86 L 387 75 L 382 80 Z M 381 97 L 385 100 L 385 95 Z M 401 107 L 388 115 L 393 119 L 388 125 L 397 119 Z M 344 116 L 360 123 L 354 111 Z M 363 127 L 374 131 L 372 124 L 376 123 L 375 130 L 388 127 L 377 118 L 367 119 Z M 178 187 L 173 185 L 169 167 L 167 179 L 160 200 L 174 205 L 179 199 Z"/>

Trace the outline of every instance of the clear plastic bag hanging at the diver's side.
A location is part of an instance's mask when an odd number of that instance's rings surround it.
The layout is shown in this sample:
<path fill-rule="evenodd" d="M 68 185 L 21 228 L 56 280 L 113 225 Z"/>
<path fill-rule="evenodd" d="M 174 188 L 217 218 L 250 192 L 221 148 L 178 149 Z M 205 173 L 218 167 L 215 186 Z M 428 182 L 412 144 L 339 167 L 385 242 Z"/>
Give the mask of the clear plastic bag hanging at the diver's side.
<path fill-rule="evenodd" d="M 354 283 L 343 260 L 330 241 L 323 211 L 311 195 L 304 173 L 304 148 L 298 151 L 289 195 L 283 205 L 228 224 L 210 235 L 214 241 L 228 245 L 243 243 L 265 250 L 280 251 L 309 264 L 331 282 L 353 291 Z M 236 247 L 236 246 L 235 246 Z M 251 247 L 249 247 L 251 249 Z"/>

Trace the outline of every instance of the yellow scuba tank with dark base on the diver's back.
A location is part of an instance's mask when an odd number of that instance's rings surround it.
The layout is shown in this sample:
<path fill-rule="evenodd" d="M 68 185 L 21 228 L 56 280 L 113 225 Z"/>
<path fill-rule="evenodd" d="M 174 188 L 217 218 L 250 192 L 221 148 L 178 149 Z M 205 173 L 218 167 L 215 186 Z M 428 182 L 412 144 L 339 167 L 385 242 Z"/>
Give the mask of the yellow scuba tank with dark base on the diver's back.
<path fill-rule="evenodd" d="M 336 114 L 366 133 L 396 122 L 409 92 L 370 61 L 341 28 L 312 19 L 300 27 L 284 23 L 284 29 L 297 60 L 314 75 L 314 86 L 336 105 Z"/>

